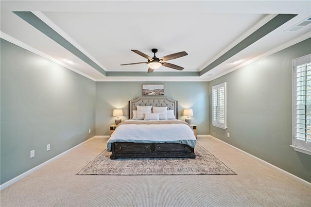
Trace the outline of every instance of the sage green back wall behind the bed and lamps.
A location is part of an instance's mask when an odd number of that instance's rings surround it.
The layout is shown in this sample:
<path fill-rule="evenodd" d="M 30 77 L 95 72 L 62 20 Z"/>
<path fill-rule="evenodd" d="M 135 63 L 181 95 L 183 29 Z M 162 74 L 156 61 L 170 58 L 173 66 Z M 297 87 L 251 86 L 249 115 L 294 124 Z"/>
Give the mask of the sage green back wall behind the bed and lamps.
<path fill-rule="evenodd" d="M 209 134 L 207 82 L 96 82 L 96 135 L 109 135 L 114 108 L 123 109 L 122 121 L 128 119 L 128 101 L 142 96 L 142 84 L 164 84 L 164 96 L 178 101 L 178 119 L 185 120 L 183 109 L 192 108 L 198 134 Z"/>

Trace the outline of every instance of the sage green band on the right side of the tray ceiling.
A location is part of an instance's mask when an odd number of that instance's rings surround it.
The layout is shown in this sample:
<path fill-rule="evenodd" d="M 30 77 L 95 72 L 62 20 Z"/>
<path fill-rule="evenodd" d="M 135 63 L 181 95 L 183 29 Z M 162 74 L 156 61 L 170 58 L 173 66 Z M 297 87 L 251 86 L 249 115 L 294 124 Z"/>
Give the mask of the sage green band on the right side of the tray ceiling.
<path fill-rule="evenodd" d="M 248 46 L 250 46 L 257 40 L 259 40 L 261 37 L 271 33 L 273 30 L 275 30 L 276 28 L 278 28 L 279 26 L 281 26 L 282 24 L 284 24 L 285 22 L 289 21 L 290 19 L 296 16 L 297 15 L 295 14 L 278 14 L 276 17 L 268 21 L 266 24 L 264 24 L 254 33 L 247 36 L 236 46 L 231 48 L 229 51 L 225 52 L 222 56 L 220 56 L 214 62 L 212 62 L 207 67 L 205 67 L 203 70 L 201 70 L 200 76 L 205 74 L 209 70 L 215 68 L 216 66 L 220 65 L 221 63 L 225 62 L 227 59 L 229 59 L 233 55 L 237 54 L 238 52 L 241 52 L 243 49 L 247 48 Z"/>

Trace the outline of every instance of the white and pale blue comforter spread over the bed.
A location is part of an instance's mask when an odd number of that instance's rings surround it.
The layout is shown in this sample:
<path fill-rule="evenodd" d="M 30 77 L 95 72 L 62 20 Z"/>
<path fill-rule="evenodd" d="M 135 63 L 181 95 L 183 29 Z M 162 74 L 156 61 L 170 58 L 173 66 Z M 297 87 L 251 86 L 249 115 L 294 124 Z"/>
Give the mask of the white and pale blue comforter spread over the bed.
<path fill-rule="evenodd" d="M 134 120 L 129 120 L 134 121 Z M 180 143 L 194 148 L 196 138 L 192 128 L 185 122 L 165 124 L 121 124 L 113 132 L 107 142 L 107 151 L 111 151 L 113 142 L 136 142 L 136 143 Z"/>

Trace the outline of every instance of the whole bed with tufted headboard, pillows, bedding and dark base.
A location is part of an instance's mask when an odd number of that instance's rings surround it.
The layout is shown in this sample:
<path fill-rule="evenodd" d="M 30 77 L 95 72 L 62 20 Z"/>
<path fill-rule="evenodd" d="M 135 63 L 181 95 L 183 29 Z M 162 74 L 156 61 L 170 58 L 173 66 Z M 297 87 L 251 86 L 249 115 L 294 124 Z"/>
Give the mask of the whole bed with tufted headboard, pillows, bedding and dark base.
<path fill-rule="evenodd" d="M 191 126 L 177 119 L 177 101 L 168 97 L 138 97 L 129 101 L 128 114 L 129 120 L 118 124 L 108 139 L 111 159 L 195 158 L 196 138 Z"/>

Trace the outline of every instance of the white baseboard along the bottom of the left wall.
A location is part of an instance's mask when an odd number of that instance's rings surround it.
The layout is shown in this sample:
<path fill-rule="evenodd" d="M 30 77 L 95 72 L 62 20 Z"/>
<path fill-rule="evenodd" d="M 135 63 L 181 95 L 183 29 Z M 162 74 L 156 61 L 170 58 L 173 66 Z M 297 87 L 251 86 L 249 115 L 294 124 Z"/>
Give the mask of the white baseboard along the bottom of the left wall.
<path fill-rule="evenodd" d="M 96 136 L 95 136 L 95 137 L 96 137 Z M 95 137 L 92 137 L 92 138 L 95 138 Z M 65 152 L 63 152 L 63 153 L 54 156 L 53 158 L 49 159 L 48 161 L 45 161 L 44 163 L 42 163 L 42 164 L 40 164 L 40 165 L 38 165 L 38 166 L 36 166 L 36 167 L 30 169 L 29 171 L 26 171 L 25 173 L 22 173 L 22 174 L 16 176 L 15 178 L 12 178 L 11 180 L 9 180 L 9 181 L 3 183 L 2 185 L 0 185 L 0 190 L 5 189 L 6 187 L 12 185 L 13 183 L 16 183 L 18 180 L 20 180 L 20 179 L 22 179 L 22 178 L 24 178 L 24 177 L 30 175 L 31 173 L 35 173 L 35 171 L 39 170 L 40 168 L 43 168 L 44 166 L 46 166 L 46 165 L 50 164 L 51 162 L 55 161 L 56 159 L 58 159 L 58 158 L 60 158 L 60 157 L 62 157 L 62 156 L 64 156 L 64 155 L 68 154 L 70 151 L 72 151 L 72 150 L 74 150 L 74 149 L 80 147 L 81 145 L 83 145 L 83 144 L 85 144 L 86 142 L 90 141 L 92 138 L 87 139 L 86 141 L 84 141 L 84 142 L 78 144 L 77 146 L 74 146 L 74 147 L 70 148 L 69 150 L 67 150 L 67 151 L 65 151 Z"/>

